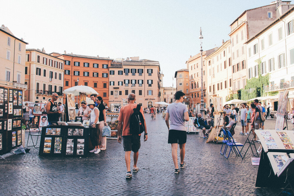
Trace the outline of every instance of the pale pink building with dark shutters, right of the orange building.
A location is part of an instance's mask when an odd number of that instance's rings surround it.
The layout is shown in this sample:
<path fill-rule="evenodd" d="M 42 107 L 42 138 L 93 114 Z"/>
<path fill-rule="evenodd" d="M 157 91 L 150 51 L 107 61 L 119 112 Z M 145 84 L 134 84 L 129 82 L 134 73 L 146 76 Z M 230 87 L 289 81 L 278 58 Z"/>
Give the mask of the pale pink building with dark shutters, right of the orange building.
<path fill-rule="evenodd" d="M 160 100 L 160 78 L 158 61 L 146 63 L 146 60 L 127 59 L 112 62 L 109 68 L 109 104 L 123 105 L 128 94 L 135 93 L 136 103 L 143 107 L 154 105 Z"/>

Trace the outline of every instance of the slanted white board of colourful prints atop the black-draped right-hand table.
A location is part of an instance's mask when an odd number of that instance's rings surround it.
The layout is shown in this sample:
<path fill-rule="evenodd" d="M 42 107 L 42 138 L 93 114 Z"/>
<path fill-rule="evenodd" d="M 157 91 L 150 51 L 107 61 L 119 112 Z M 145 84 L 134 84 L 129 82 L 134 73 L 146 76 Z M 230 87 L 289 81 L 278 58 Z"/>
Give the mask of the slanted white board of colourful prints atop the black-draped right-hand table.
<path fill-rule="evenodd" d="M 287 152 L 287 150 L 291 152 L 294 150 L 293 131 L 255 130 L 255 133 L 266 153 L 269 149 L 275 152 Z"/>

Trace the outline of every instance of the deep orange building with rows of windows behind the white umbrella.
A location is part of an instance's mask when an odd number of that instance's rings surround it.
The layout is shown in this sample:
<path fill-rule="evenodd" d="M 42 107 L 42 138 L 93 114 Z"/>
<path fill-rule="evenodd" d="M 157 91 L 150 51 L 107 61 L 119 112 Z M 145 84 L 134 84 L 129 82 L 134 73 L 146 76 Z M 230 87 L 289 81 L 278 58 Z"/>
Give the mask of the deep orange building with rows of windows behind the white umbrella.
<path fill-rule="evenodd" d="M 109 101 L 108 70 L 113 59 L 78 54 L 51 53 L 64 60 L 64 90 L 72 86 L 90 86 L 103 101 Z M 65 100 L 64 100 L 65 101 Z"/>

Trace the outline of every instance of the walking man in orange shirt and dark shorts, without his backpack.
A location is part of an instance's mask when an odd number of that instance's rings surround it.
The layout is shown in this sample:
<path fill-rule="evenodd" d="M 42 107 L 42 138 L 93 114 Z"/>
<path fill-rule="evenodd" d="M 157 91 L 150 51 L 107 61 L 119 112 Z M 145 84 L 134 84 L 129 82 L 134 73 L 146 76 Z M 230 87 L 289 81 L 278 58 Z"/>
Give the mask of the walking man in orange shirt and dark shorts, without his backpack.
<path fill-rule="evenodd" d="M 130 93 L 128 95 L 128 104 L 121 107 L 121 110 L 118 115 L 118 126 L 117 126 L 117 141 L 121 143 L 121 130 L 123 136 L 123 150 L 125 151 L 125 160 L 127 166 L 126 178 L 131 178 L 132 173 L 130 169 L 131 164 L 131 151 L 134 152 L 134 165 L 133 172 L 138 172 L 139 168 L 137 167 L 137 161 L 139 156 L 139 149 L 141 147 L 141 134 L 139 135 L 131 135 L 130 133 L 130 117 L 133 114 L 133 109 L 137 107 L 135 104 L 136 95 L 134 93 Z M 144 118 L 145 124 L 145 133 L 144 133 L 144 142 L 147 140 L 147 128 L 145 117 L 143 113 L 143 108 L 141 107 L 140 112 Z"/>

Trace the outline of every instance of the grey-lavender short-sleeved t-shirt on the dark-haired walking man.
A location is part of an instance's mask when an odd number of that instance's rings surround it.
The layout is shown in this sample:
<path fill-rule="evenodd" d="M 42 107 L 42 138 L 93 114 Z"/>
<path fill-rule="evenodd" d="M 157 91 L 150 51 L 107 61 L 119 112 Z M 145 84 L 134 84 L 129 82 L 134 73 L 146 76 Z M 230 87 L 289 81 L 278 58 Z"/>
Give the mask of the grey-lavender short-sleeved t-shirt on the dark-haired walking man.
<path fill-rule="evenodd" d="M 183 103 L 171 103 L 167 106 L 166 113 L 170 117 L 170 130 L 186 131 L 184 113 L 188 112 L 188 108 Z"/>

